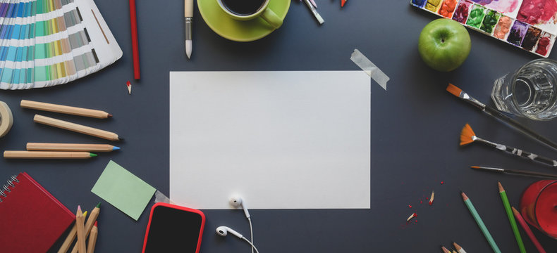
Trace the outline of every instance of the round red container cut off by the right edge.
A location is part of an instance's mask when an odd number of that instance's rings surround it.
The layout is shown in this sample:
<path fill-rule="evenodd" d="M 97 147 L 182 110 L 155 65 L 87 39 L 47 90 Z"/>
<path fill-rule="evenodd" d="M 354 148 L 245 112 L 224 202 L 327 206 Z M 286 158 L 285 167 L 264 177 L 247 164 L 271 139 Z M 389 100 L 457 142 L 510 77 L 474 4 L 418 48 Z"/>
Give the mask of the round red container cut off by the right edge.
<path fill-rule="evenodd" d="M 532 183 L 520 197 L 520 212 L 525 221 L 550 238 L 557 239 L 557 180 Z"/>

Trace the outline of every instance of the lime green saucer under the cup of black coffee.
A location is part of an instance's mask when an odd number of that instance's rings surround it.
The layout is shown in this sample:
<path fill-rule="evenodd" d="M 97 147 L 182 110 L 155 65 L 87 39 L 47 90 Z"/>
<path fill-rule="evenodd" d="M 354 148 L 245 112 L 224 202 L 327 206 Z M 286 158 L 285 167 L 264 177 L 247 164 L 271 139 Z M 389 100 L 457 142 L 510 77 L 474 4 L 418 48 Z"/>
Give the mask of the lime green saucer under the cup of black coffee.
<path fill-rule="evenodd" d="M 271 0 L 269 7 L 279 18 L 284 19 L 290 0 Z M 233 41 L 255 41 L 269 35 L 274 28 L 262 18 L 240 21 L 231 18 L 219 6 L 216 0 L 197 0 L 203 20 L 216 32 L 226 39 Z M 280 28 L 279 28 L 280 29 Z"/>

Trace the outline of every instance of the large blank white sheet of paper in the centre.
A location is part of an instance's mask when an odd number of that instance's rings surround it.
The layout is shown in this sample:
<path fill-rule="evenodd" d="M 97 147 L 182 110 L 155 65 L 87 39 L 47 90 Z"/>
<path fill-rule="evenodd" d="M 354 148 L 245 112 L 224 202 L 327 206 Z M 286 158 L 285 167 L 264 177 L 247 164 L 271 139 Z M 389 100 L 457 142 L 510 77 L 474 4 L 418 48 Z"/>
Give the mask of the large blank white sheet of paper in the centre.
<path fill-rule="evenodd" d="M 369 209 L 363 71 L 170 72 L 170 198 L 197 209 Z"/>

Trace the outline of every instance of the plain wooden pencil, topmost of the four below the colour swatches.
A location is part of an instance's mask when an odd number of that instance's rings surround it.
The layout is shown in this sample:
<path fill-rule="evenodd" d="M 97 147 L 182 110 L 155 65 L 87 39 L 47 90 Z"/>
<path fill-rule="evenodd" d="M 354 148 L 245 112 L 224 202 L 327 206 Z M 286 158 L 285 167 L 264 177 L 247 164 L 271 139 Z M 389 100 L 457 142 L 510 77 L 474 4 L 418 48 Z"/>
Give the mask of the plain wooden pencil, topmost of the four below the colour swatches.
<path fill-rule="evenodd" d="M 112 117 L 110 113 L 104 112 L 102 110 L 77 108 L 68 105 L 56 105 L 53 103 L 42 103 L 42 102 L 23 100 L 23 99 L 21 100 L 20 105 L 22 108 L 27 108 L 27 109 L 44 110 L 47 112 L 59 112 L 59 113 L 65 113 L 69 115 L 94 117 L 97 119 L 106 119 L 108 117 Z"/>

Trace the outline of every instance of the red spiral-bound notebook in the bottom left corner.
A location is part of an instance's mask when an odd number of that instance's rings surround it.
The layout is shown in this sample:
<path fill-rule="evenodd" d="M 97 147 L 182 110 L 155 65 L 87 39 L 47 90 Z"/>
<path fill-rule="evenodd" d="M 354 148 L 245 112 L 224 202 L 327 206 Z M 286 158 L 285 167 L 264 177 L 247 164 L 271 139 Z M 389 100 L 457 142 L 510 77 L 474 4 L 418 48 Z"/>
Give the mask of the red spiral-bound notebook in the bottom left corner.
<path fill-rule="evenodd" d="M 47 252 L 75 221 L 75 214 L 25 172 L 0 188 L 0 200 L 1 252 Z"/>

